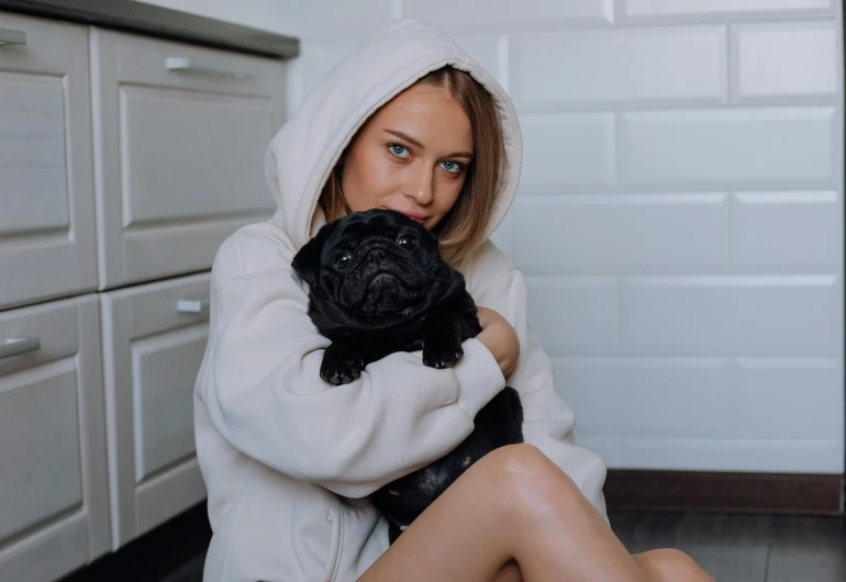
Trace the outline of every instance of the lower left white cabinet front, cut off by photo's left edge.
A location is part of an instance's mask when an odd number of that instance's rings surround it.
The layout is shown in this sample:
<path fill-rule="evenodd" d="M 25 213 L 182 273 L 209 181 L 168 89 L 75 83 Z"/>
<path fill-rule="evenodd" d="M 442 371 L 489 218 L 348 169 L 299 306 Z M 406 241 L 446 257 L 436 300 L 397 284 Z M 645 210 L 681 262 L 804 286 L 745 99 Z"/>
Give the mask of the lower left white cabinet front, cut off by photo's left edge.
<path fill-rule="evenodd" d="M 97 295 L 0 313 L 0 580 L 44 582 L 109 549 Z"/>

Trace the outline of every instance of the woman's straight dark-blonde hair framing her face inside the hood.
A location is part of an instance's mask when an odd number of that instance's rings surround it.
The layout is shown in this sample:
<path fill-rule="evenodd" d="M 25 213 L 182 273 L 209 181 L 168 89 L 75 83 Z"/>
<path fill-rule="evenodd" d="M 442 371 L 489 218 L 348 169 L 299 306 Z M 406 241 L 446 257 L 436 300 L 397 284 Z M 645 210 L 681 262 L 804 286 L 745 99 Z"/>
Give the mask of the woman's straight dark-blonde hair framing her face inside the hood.
<path fill-rule="evenodd" d="M 464 108 L 472 127 L 474 157 L 464 188 L 453 209 L 434 228 L 444 259 L 457 264 L 482 242 L 487 232 L 504 159 L 502 126 L 493 98 L 470 74 L 446 66 L 416 82 L 445 89 Z M 320 194 L 327 221 L 350 212 L 341 188 L 345 158 L 346 153 Z"/>

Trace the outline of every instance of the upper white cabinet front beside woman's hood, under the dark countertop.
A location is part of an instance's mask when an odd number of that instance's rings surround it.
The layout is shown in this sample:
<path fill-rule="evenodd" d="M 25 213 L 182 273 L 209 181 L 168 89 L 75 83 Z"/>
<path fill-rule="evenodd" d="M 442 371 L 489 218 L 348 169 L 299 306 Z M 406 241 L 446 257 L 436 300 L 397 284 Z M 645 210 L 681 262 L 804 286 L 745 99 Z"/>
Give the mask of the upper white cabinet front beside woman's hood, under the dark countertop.
<path fill-rule="evenodd" d="M 272 213 L 285 64 L 101 30 L 91 60 L 100 289 L 208 269 Z"/>

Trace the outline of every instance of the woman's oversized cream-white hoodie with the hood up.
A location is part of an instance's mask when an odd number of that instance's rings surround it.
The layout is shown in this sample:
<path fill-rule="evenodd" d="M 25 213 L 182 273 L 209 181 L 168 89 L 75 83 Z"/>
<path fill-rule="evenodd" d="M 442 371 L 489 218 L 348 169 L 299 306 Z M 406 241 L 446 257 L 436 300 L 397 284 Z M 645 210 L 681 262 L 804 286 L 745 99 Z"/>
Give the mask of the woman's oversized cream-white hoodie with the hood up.
<path fill-rule="evenodd" d="M 393 21 L 338 64 L 274 138 L 266 160 L 278 210 L 223 243 L 211 283 L 209 344 L 197 379 L 197 454 L 214 531 L 205 581 L 353 581 L 387 548 L 367 496 L 452 450 L 505 385 L 477 339 L 452 369 L 420 352 L 369 365 L 353 383 L 320 378 L 323 349 L 290 264 L 325 222 L 319 192 L 344 147 L 381 104 L 426 72 L 468 71 L 497 101 L 507 169 L 488 234 L 508 212 L 522 142 L 504 90 L 437 30 Z M 523 277 L 487 242 L 461 266 L 479 305 L 508 318 L 521 344 L 509 384 L 521 394 L 527 443 L 543 450 L 604 516 L 605 466 L 572 438 L 549 358 L 530 334 Z"/>

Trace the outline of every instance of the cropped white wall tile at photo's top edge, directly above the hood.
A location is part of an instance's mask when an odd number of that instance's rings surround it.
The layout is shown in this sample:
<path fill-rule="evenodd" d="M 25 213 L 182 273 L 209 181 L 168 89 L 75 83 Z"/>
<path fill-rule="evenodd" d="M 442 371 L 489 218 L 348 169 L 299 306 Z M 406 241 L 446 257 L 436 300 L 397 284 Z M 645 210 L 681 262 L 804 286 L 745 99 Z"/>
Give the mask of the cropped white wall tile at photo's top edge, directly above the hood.
<path fill-rule="evenodd" d="M 445 31 L 501 30 L 567 24 L 609 24 L 614 0 L 402 0 L 402 15 L 423 19 Z"/>

